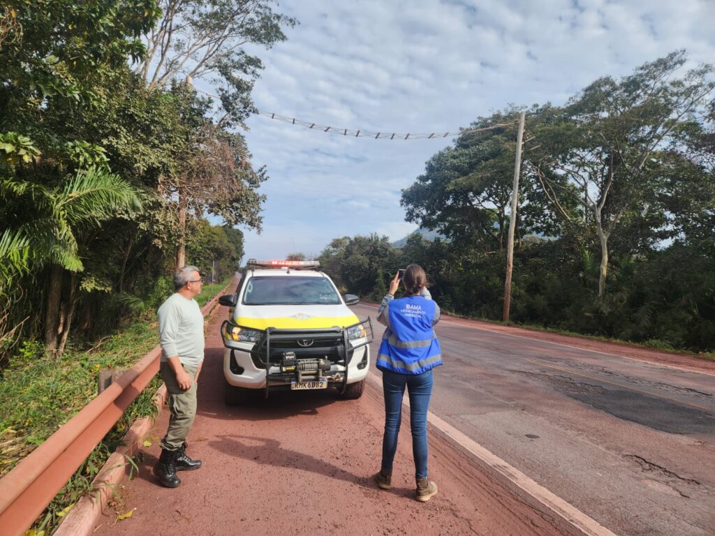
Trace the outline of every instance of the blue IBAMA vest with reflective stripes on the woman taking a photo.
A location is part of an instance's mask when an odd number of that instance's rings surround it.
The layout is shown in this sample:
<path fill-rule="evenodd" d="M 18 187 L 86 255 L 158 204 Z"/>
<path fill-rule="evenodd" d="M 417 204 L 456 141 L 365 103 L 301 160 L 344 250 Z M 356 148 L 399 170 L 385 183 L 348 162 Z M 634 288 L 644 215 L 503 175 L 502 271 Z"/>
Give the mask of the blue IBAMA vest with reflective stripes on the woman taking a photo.
<path fill-rule="evenodd" d="M 437 304 L 425 297 L 408 296 L 388 302 L 383 311 L 388 327 L 380 344 L 377 367 L 401 374 L 422 374 L 443 364 L 432 327 L 438 315 Z"/>

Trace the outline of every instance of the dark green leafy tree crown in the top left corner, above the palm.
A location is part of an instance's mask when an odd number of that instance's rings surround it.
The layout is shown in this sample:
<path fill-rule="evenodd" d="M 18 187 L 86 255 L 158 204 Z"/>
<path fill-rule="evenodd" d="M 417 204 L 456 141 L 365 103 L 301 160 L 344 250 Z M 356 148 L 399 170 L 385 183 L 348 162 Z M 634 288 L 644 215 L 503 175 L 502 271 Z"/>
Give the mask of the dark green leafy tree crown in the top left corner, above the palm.
<path fill-rule="evenodd" d="M 152 28 L 157 16 L 153 0 L 4 2 L 0 132 L 19 130 L 47 152 L 53 137 L 46 133 L 41 111 L 57 100 L 96 102 L 87 75 L 125 64 L 127 56 L 139 59 L 144 54 L 139 36 Z"/>

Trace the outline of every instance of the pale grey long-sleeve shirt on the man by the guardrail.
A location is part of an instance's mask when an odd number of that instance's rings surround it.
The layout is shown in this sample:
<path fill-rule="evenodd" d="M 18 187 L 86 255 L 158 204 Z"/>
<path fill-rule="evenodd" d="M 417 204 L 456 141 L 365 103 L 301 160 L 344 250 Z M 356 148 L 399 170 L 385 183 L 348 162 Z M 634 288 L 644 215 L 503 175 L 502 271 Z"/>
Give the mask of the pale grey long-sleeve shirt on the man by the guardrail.
<path fill-rule="evenodd" d="M 178 355 L 182 364 L 198 367 L 204 360 L 204 315 L 196 300 L 174 292 L 157 315 L 162 362 Z"/>

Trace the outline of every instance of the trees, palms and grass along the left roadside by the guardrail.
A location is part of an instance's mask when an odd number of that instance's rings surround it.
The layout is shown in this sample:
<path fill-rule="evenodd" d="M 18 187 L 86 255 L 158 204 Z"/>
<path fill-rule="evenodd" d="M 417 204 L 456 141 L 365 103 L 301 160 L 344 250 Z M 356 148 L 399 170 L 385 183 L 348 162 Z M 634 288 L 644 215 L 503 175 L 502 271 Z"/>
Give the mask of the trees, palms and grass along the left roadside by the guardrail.
<path fill-rule="evenodd" d="M 268 177 L 240 129 L 275 0 L 0 6 L 0 475 L 157 344 L 172 272 L 232 277 Z M 176 31 L 180 28 L 181 36 Z M 194 82 L 211 81 L 207 98 Z M 204 287 L 202 299 L 215 292 Z M 38 520 L 50 534 L 150 385 Z"/>

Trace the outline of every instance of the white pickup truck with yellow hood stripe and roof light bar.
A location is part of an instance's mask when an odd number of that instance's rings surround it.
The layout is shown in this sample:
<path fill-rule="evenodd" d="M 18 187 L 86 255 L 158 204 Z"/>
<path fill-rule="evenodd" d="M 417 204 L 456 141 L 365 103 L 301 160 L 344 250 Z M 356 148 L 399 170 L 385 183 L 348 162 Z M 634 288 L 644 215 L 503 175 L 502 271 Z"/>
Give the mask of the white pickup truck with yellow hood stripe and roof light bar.
<path fill-rule="evenodd" d="M 251 390 L 336 389 L 345 399 L 362 396 L 370 369 L 370 317 L 360 321 L 317 261 L 251 259 L 221 327 L 228 405 Z"/>

